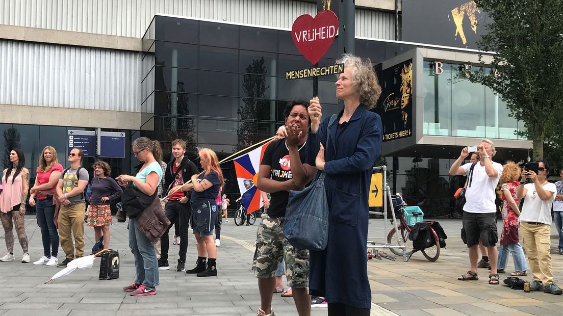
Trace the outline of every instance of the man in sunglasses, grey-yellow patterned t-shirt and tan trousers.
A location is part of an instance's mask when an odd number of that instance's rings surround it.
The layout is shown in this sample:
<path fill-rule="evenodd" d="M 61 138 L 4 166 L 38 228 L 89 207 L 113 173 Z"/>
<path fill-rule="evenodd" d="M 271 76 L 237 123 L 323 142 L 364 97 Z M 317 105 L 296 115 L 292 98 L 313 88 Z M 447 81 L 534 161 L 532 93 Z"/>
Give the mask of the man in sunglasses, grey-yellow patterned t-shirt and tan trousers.
<path fill-rule="evenodd" d="M 61 202 L 57 224 L 61 247 L 66 256 L 57 267 L 66 267 L 74 258 L 84 256 L 84 213 L 86 213 L 84 190 L 90 175 L 81 166 L 83 156 L 81 149 L 72 148 L 68 159 L 70 168 L 62 171 L 57 184 L 57 195 Z M 74 245 L 72 235 L 74 235 Z"/>

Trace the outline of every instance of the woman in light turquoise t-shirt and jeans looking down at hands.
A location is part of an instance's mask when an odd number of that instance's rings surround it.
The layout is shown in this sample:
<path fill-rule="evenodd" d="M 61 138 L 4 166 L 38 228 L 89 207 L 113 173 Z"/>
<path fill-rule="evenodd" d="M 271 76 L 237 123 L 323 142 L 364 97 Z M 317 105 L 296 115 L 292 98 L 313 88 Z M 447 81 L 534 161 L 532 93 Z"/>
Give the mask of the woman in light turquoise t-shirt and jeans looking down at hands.
<path fill-rule="evenodd" d="M 133 141 L 132 147 L 133 155 L 143 163 L 135 176 L 122 174 L 117 177 L 118 183 L 125 187 L 132 182 L 139 191 L 152 196 L 162 180 L 160 143 L 139 137 Z M 129 219 L 129 247 L 135 257 L 135 281 L 123 291 L 131 292 L 131 296 L 155 295 L 159 285 L 157 254 L 153 243 L 137 228 L 137 219 Z"/>

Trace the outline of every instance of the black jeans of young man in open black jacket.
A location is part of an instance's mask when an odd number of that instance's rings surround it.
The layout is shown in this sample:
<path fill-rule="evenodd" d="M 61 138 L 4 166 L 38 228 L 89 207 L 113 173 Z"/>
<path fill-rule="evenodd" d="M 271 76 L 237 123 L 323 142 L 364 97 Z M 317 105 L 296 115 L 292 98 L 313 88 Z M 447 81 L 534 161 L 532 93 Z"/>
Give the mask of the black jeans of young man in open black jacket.
<path fill-rule="evenodd" d="M 187 240 L 189 238 L 187 229 L 189 228 L 191 216 L 190 203 L 182 204 L 180 201 L 168 201 L 166 207 L 164 207 L 164 214 L 166 214 L 171 224 L 162 237 L 160 237 L 160 259 L 168 260 L 168 249 L 170 247 L 168 233 L 170 228 L 176 223 L 176 220 L 178 220 L 178 230 L 180 231 L 180 251 L 178 251 L 178 256 L 180 256 L 180 260 L 185 263 Z"/>

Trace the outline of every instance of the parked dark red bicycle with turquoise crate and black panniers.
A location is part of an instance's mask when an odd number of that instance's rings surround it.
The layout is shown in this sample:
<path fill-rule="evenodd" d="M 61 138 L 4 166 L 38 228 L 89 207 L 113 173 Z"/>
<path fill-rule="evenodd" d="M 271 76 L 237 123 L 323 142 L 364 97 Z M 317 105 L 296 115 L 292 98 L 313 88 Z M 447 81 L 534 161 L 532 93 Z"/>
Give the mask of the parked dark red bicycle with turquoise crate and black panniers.
<path fill-rule="evenodd" d="M 395 200 L 395 198 L 393 198 L 393 200 Z M 398 215 L 399 215 L 399 221 L 400 221 L 400 224 L 397 226 L 397 229 L 399 229 L 399 231 L 400 231 L 400 236 L 398 236 L 399 246 L 403 246 L 403 245 L 405 246 L 405 253 L 403 254 L 401 249 L 390 248 L 389 250 L 391 250 L 391 252 L 393 252 L 397 256 L 403 256 L 403 260 L 406 262 L 410 259 L 410 256 L 412 256 L 414 254 L 414 252 L 417 251 L 417 250 L 414 250 L 414 249 L 409 250 L 409 247 L 406 245 L 406 242 L 409 240 L 410 231 L 412 231 L 414 225 L 409 226 L 406 223 L 406 219 L 405 219 L 406 203 L 403 202 L 403 203 L 401 203 L 397 206 L 399 207 L 399 209 L 397 210 L 396 213 L 399 213 Z M 423 214 L 421 212 L 413 212 L 410 215 L 415 216 L 415 218 L 416 218 L 416 217 L 421 216 Z M 391 220 L 391 222 L 392 222 L 392 220 Z M 434 222 L 429 222 L 430 231 L 432 232 L 432 236 L 434 236 L 434 246 L 428 247 L 425 250 L 421 250 L 422 255 L 424 255 L 425 258 L 428 261 L 436 261 L 438 259 L 438 257 L 440 256 L 440 238 L 438 237 L 438 234 L 436 233 L 434 228 L 432 228 L 432 224 L 434 224 Z M 394 227 L 387 234 L 387 243 L 392 244 L 393 243 L 392 240 L 394 240 L 394 238 L 396 240 L 397 237 L 395 237 L 395 233 L 397 233 L 397 231 Z"/>

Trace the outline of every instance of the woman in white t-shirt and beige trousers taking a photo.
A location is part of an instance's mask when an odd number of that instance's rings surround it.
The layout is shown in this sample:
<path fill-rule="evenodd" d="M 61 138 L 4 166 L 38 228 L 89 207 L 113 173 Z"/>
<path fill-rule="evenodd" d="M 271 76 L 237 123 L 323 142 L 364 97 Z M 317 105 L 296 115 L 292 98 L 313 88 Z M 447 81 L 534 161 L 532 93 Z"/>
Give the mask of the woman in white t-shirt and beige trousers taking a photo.
<path fill-rule="evenodd" d="M 531 291 L 544 291 L 555 295 L 563 291 L 553 283 L 551 268 L 551 205 L 555 200 L 557 188 L 548 182 L 549 166 L 545 161 L 539 161 L 538 173 L 533 170 L 522 171 L 520 182 L 530 179 L 531 183 L 520 185 L 518 198 L 524 198 L 522 213 L 520 214 L 520 232 L 524 249 L 530 261 L 534 278 L 530 283 Z"/>

